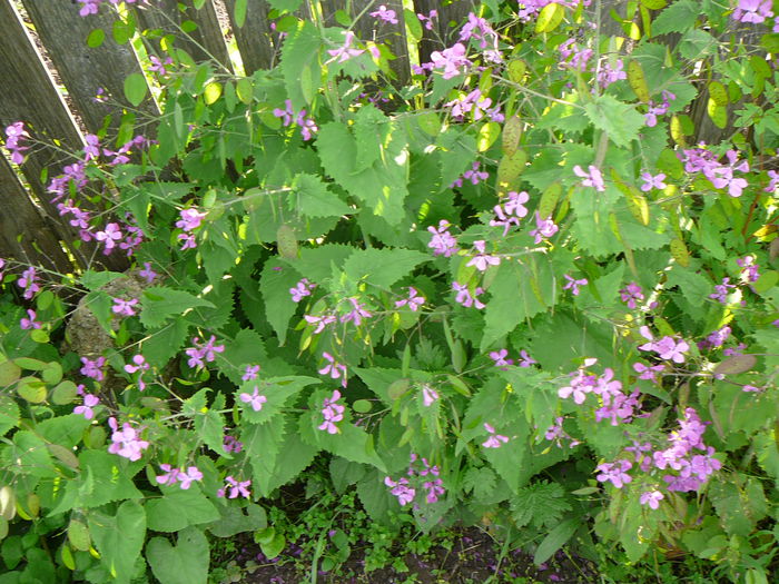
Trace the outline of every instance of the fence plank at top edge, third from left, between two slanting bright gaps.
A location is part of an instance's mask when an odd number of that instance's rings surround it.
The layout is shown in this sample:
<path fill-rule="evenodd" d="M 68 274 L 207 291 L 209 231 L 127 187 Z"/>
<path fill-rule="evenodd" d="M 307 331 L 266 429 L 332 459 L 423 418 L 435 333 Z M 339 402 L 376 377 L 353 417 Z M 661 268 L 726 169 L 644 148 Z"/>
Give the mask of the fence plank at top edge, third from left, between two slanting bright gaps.
<path fill-rule="evenodd" d="M 178 0 L 159 0 L 149 7 L 138 6 L 136 14 L 138 24 L 144 29 L 160 29 L 165 34 L 176 36 L 176 46 L 184 49 L 197 62 L 215 59 L 227 70 L 233 70 L 225 37 L 219 29 L 219 21 L 211 2 L 206 2 L 200 10 Z M 181 32 L 181 22 L 190 20 L 197 29 Z"/>

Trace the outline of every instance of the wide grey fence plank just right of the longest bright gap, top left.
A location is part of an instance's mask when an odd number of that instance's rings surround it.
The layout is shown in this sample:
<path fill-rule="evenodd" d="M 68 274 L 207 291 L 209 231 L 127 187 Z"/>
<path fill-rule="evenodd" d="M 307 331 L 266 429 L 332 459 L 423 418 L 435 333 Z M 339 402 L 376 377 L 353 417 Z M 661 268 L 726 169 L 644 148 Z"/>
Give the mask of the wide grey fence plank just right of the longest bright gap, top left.
<path fill-rule="evenodd" d="M 114 40 L 116 16 L 111 11 L 103 9 L 99 14 L 82 18 L 79 4 L 70 2 L 22 0 L 22 3 L 90 132 L 97 132 L 111 111 L 93 100 L 98 88 L 103 88 L 112 101 L 131 108 L 125 98 L 124 82 L 130 73 L 141 72 L 140 65 L 129 42 L 117 44 Z M 87 47 L 87 36 L 98 28 L 106 32 L 105 41 L 96 49 Z M 139 109 L 147 115 L 158 112 L 152 99 L 146 99 Z M 118 115 L 112 116 L 111 127 L 116 128 L 119 121 Z"/>

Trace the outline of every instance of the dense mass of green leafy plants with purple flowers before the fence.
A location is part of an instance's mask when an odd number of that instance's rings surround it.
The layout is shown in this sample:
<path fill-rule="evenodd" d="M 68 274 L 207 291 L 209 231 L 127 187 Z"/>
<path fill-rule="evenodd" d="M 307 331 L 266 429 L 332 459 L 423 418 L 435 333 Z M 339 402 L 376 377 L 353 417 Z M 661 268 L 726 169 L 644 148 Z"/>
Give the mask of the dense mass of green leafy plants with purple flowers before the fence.
<path fill-rule="evenodd" d="M 146 31 L 161 116 L 50 179 L 130 271 L 4 261 L 0 582 L 205 582 L 206 534 L 273 557 L 263 503 L 317 456 L 378 523 L 767 582 L 771 2 L 485 1 L 405 86 L 346 13 L 269 3 L 280 65 L 249 77 Z M 436 14 L 362 18 L 414 44 Z"/>

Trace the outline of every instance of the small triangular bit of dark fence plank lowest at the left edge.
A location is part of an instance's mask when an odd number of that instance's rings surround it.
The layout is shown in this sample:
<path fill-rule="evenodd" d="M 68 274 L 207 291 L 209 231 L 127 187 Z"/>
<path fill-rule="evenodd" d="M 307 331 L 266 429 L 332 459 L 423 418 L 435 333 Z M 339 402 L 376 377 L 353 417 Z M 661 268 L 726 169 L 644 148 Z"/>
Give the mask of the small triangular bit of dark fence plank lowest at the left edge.
<path fill-rule="evenodd" d="M 62 251 L 56 229 L 30 200 L 4 156 L 0 156 L 0 256 L 55 271 L 68 266 L 70 260 Z"/>

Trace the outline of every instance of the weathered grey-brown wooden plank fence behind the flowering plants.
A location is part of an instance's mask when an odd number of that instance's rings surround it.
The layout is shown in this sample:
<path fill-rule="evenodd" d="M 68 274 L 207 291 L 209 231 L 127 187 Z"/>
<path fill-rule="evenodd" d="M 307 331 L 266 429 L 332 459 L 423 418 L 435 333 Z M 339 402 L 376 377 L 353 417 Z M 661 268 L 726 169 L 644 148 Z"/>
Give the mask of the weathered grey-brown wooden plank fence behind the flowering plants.
<path fill-rule="evenodd" d="M 139 29 L 176 32 L 184 22 L 194 22 L 197 28 L 190 38 L 177 40 L 177 46 L 195 60 L 213 59 L 235 70 L 226 34 L 235 36 L 247 75 L 273 67 L 278 60 L 278 34 L 272 30 L 270 8 L 265 0 L 248 0 L 241 27 L 236 26 L 236 0 L 206 0 L 198 10 L 191 8 L 193 0 L 184 0 L 189 6 L 184 11 L 179 0 L 149 1 L 156 4 L 154 10 L 145 9 L 140 2 L 134 9 Z M 415 12 L 438 11 L 435 28 L 423 29 L 420 55 L 414 56 L 408 55 L 402 0 L 313 0 L 304 6 L 318 10 L 326 24 L 335 23 L 338 10 L 351 10 L 354 18 L 375 10 L 379 3 L 394 9 L 398 24 L 361 18 L 355 31 L 363 40 L 388 42 L 398 57 L 393 62 L 395 72 L 404 80 L 412 62 L 424 62 L 433 50 L 443 48 L 442 43 L 451 43 L 453 23 L 462 22 L 474 2 L 453 0 L 443 6 L 441 0 L 414 0 Z M 602 2 L 620 4 L 618 0 Z M 77 231 L 60 220 L 46 191 L 48 179 L 41 172 L 48 169 L 52 177 L 72 162 L 67 152 L 81 149 L 85 133 L 102 128 L 107 115 L 111 115 L 109 128 L 118 127 L 121 109 L 96 101 L 98 88 L 103 88 L 127 112 L 158 111 L 151 98 L 139 108 L 132 108 L 125 99 L 124 80 L 142 71 L 132 44 L 117 43 L 114 38 L 114 27 L 118 26 L 114 11 L 106 6 L 99 14 L 82 18 L 80 6 L 76 0 L 0 0 L 0 128 L 23 120 L 37 138 L 57 140 L 57 147 L 31 149 L 21 175 L 0 155 L 0 257 L 41 265 L 56 273 L 95 261 L 121 270 L 126 260 L 118 255 L 98 255 L 90 245 L 78 249 L 68 245 L 78 239 Z M 299 16 L 310 18 L 309 9 L 303 9 Z M 191 27 L 189 22 L 187 26 Z M 98 28 L 106 32 L 105 41 L 89 48 L 87 38 Z"/>

